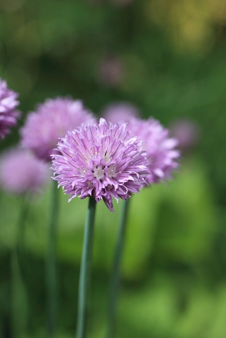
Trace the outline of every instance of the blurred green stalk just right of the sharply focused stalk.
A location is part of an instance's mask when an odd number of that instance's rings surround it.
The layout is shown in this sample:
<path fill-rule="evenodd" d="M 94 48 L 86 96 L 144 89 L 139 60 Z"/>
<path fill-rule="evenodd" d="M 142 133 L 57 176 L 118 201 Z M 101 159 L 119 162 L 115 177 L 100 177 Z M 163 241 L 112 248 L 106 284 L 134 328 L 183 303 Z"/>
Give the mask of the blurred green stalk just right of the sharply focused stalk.
<path fill-rule="evenodd" d="M 118 234 L 116 239 L 116 248 L 113 258 L 112 273 L 110 279 L 110 294 L 108 305 L 108 318 L 107 318 L 107 338 L 114 337 L 115 334 L 115 322 L 116 322 L 116 302 L 117 293 L 120 279 L 120 265 L 122 258 L 122 251 L 125 241 L 126 220 L 128 214 L 129 201 L 123 201 L 122 215 L 118 228 Z"/>

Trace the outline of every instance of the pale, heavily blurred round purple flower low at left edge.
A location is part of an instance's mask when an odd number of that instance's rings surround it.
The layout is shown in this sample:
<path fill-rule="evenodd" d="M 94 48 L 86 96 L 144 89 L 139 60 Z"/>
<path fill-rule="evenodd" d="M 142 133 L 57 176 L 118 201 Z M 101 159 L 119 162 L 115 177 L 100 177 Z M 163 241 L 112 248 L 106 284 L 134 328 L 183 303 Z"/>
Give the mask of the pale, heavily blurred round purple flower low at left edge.
<path fill-rule="evenodd" d="M 2 155 L 0 181 L 7 192 L 36 193 L 41 190 L 48 177 L 48 165 L 25 150 L 13 149 Z"/>

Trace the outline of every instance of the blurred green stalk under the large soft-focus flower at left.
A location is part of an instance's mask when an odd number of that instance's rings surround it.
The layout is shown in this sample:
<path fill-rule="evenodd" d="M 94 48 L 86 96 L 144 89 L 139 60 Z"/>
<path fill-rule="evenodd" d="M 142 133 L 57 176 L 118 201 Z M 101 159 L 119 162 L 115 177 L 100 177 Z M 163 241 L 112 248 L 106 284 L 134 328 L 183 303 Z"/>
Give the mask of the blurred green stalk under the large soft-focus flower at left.
<path fill-rule="evenodd" d="M 55 336 L 57 322 L 57 267 L 56 267 L 56 237 L 58 219 L 58 190 L 55 181 L 52 183 L 51 216 L 48 232 L 46 256 L 46 289 L 48 299 L 47 333 L 48 337 Z"/>

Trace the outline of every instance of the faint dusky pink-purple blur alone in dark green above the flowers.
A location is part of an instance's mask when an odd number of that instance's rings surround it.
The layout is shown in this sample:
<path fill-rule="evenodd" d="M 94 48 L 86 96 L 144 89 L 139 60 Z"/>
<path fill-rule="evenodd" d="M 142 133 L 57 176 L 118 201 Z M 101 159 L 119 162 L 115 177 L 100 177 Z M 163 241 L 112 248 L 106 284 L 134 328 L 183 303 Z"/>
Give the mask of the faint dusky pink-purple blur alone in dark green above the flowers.
<path fill-rule="evenodd" d="M 120 59 L 115 56 L 102 59 L 98 69 L 98 77 L 105 86 L 117 86 L 122 79 L 122 74 L 123 65 Z"/>

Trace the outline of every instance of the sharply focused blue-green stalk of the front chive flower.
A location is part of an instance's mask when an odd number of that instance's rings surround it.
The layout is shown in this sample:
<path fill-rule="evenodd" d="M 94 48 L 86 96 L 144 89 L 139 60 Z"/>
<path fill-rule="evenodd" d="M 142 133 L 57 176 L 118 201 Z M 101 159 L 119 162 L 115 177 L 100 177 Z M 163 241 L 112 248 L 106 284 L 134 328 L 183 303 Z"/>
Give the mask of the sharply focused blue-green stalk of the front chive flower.
<path fill-rule="evenodd" d="M 84 230 L 80 276 L 79 276 L 78 315 L 77 315 L 77 331 L 76 331 L 77 338 L 85 337 L 87 294 L 91 275 L 95 210 L 96 210 L 96 200 L 93 197 L 89 197 L 89 204 Z"/>

